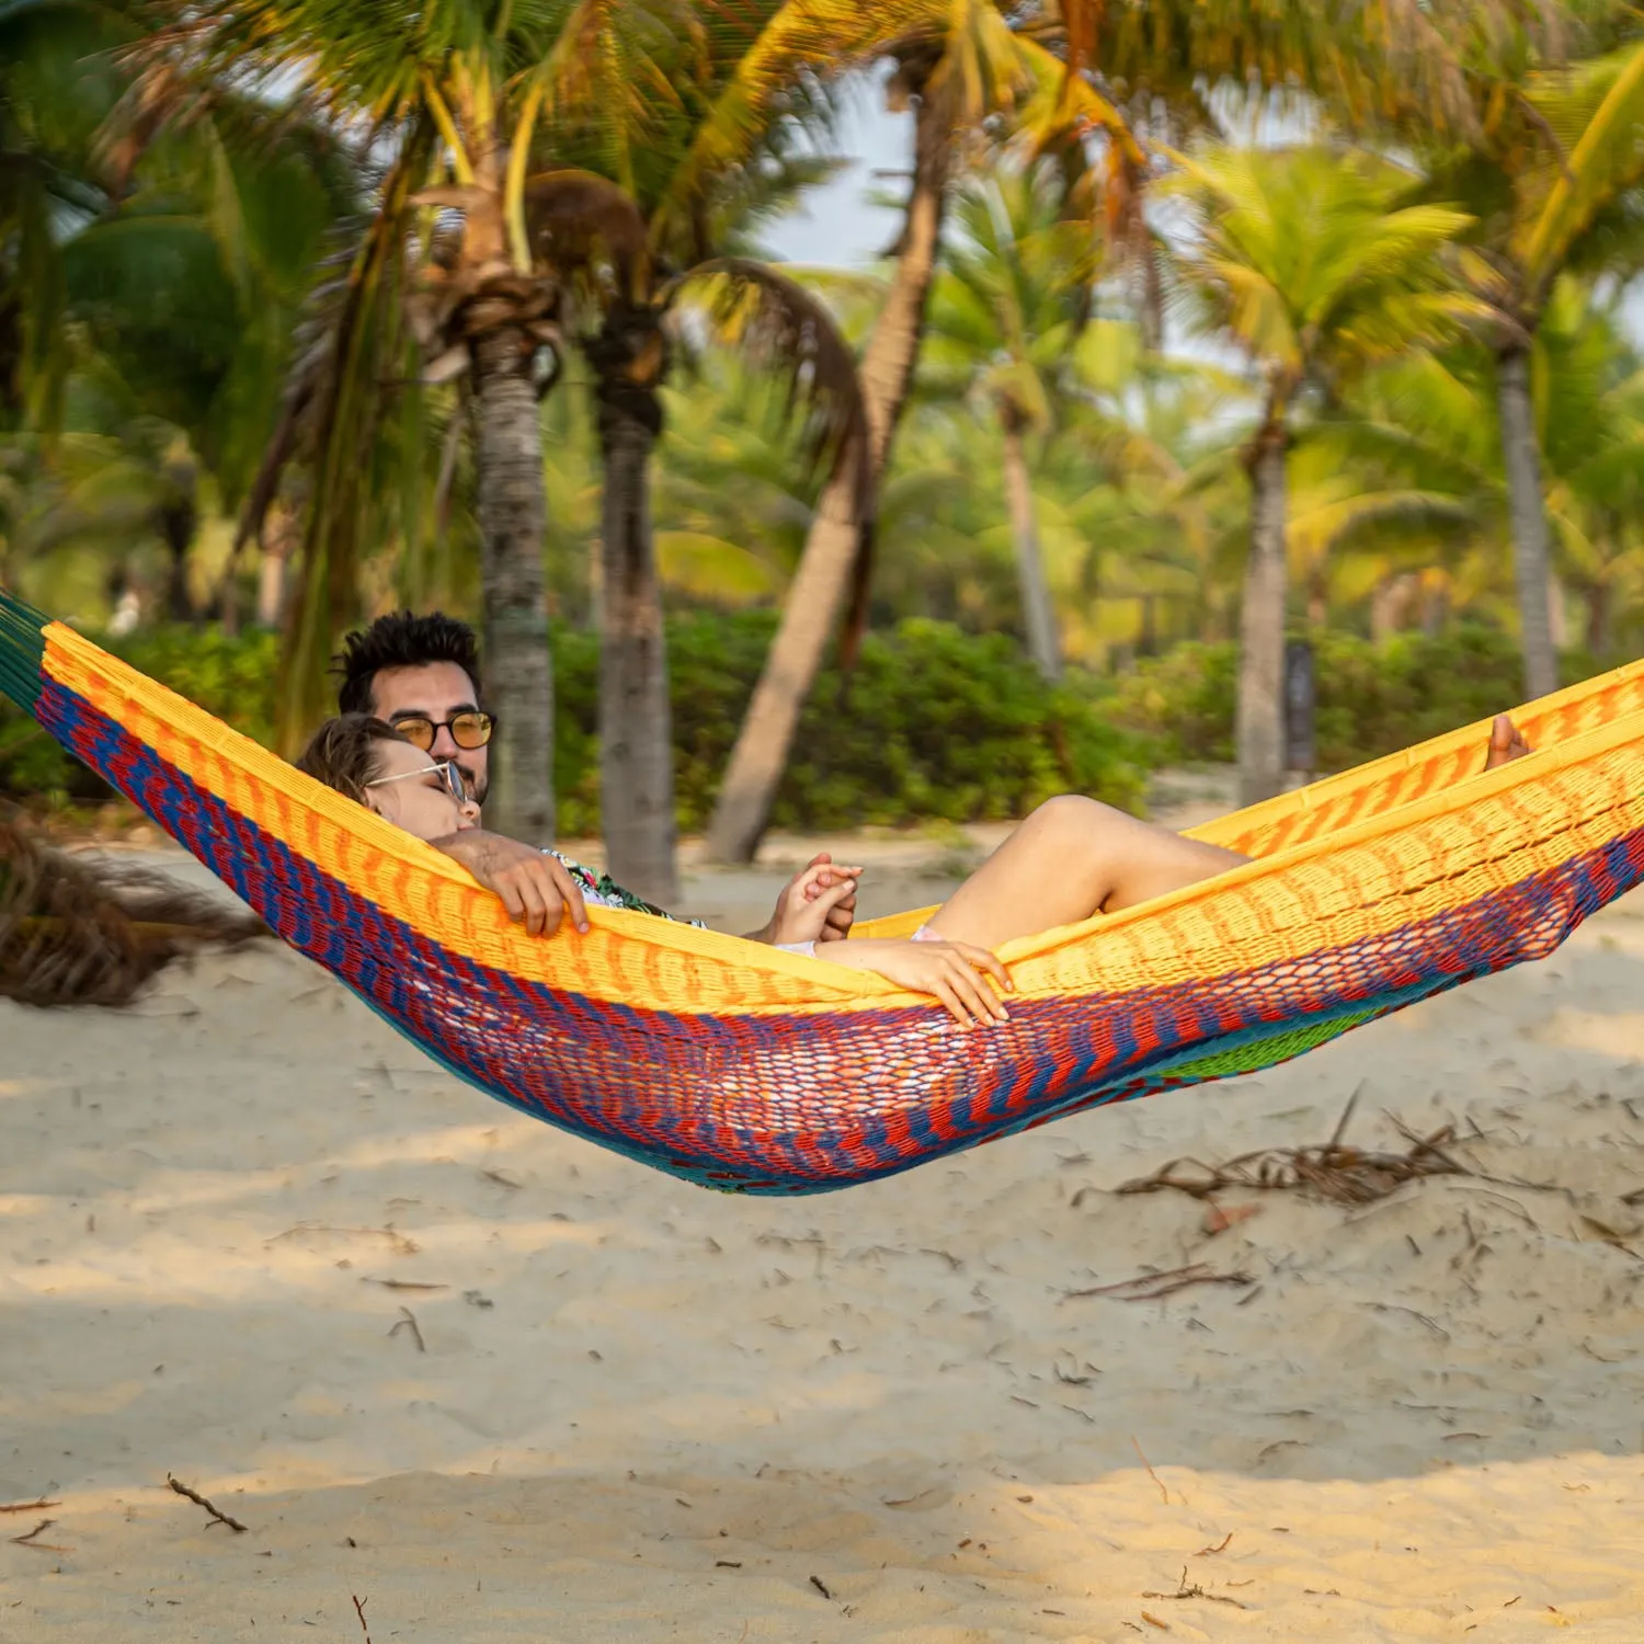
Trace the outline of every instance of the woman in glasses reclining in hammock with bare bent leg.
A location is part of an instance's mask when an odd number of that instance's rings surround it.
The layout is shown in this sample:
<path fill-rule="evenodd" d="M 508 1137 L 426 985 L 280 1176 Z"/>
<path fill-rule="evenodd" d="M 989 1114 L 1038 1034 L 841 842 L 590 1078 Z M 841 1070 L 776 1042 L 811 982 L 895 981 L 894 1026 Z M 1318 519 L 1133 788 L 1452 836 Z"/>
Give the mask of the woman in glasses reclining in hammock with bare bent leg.
<path fill-rule="evenodd" d="M 1485 768 L 1529 751 L 1503 713 L 1491 728 Z M 455 766 L 431 761 L 393 727 L 363 713 L 327 720 L 298 768 L 418 838 L 444 838 L 473 827 L 478 817 Z M 669 917 L 580 863 L 557 860 L 585 901 Z M 990 981 L 1008 993 L 1011 978 L 993 957 L 995 947 L 1098 912 L 1118 912 L 1248 860 L 1095 799 L 1064 794 L 1039 806 L 909 940 L 863 937 L 817 950 L 827 911 L 855 886 L 857 871 L 832 870 L 847 876 L 824 883 L 829 870 L 817 868 L 801 881 L 802 898 L 796 898 L 776 945 L 845 970 L 873 972 L 911 993 L 929 993 L 962 1028 L 977 1028 L 1006 1019 L 1004 1001 Z M 575 906 L 572 922 L 587 929 Z"/>

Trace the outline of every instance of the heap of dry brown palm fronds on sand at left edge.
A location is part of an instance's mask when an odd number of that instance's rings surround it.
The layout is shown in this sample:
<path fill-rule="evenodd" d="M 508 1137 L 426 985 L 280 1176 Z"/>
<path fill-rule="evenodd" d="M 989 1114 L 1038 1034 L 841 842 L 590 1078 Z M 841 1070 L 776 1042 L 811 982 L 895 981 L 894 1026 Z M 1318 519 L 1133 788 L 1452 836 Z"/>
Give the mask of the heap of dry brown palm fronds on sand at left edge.
<path fill-rule="evenodd" d="M 0 996 L 127 1004 L 182 954 L 266 934 L 243 907 L 153 870 L 84 861 L 0 819 Z"/>

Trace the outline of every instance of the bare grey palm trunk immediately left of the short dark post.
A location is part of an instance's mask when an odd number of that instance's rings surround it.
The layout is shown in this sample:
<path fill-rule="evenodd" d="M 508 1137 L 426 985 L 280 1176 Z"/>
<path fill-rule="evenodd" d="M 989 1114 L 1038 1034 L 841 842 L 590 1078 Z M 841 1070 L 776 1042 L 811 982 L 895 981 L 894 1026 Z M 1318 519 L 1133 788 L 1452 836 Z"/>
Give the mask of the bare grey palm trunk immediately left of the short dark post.
<path fill-rule="evenodd" d="M 1249 465 L 1249 562 L 1240 618 L 1240 804 L 1284 787 L 1286 429 L 1269 418 Z"/>

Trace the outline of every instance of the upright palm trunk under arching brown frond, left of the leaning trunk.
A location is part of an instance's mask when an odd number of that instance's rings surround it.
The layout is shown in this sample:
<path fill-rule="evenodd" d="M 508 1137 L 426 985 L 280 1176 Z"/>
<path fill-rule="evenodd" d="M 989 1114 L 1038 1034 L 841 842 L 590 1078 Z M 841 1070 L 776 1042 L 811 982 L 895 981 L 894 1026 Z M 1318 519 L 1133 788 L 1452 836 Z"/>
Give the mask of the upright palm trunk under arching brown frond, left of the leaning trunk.
<path fill-rule="evenodd" d="M 663 587 L 651 538 L 656 396 L 602 378 L 600 452 L 600 829 L 610 873 L 646 901 L 669 903 L 674 871 L 674 735 L 667 702 Z M 649 414 L 643 414 L 643 413 Z M 636 414 L 641 413 L 641 414 Z"/>

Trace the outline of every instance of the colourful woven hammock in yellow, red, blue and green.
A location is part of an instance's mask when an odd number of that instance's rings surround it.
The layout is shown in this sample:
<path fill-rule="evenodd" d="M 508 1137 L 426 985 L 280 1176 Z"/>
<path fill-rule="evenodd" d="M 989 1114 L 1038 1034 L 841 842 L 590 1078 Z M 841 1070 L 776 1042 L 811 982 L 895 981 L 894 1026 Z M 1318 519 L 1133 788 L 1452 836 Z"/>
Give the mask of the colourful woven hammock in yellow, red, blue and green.
<path fill-rule="evenodd" d="M 1195 829 L 1256 857 L 1011 942 L 1009 1023 L 644 914 L 533 939 L 454 861 L 0 592 L 0 692 L 459 1078 L 707 1187 L 810 1194 L 1287 1060 L 1550 954 L 1644 878 L 1644 663 Z M 926 911 L 858 927 L 909 934 Z"/>

